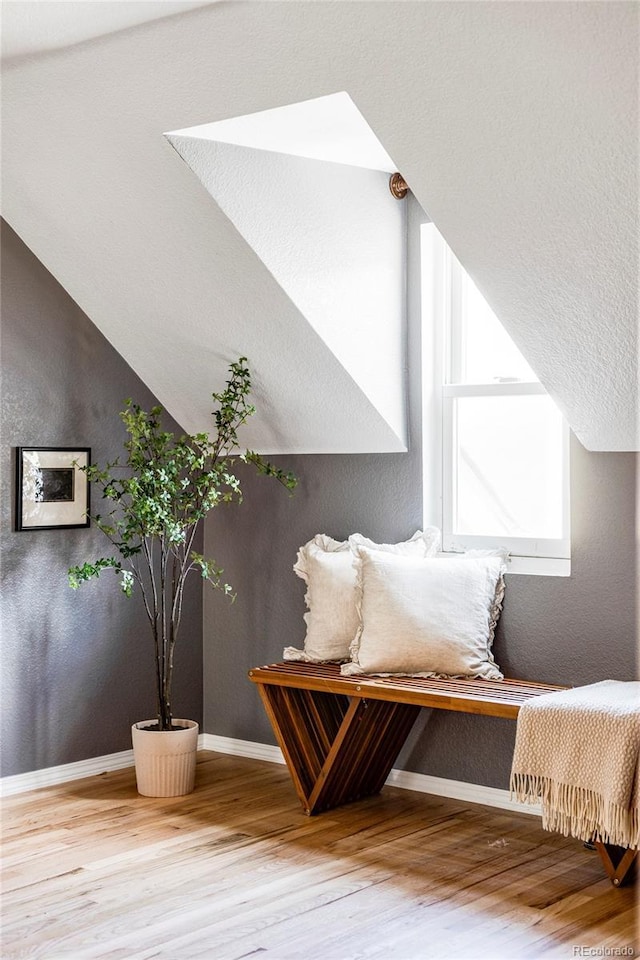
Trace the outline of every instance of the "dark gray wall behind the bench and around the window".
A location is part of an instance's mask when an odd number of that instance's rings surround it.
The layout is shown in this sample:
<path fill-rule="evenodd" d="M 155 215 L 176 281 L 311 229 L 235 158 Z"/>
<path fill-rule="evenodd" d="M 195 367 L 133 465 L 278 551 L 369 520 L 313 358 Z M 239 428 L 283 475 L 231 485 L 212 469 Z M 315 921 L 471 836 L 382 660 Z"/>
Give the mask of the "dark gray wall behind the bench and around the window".
<path fill-rule="evenodd" d="M 292 571 L 301 544 L 355 531 L 398 541 L 422 526 L 416 269 L 410 259 L 409 453 L 275 458 L 299 477 L 292 499 L 246 472 L 245 503 L 207 521 L 207 548 L 238 593 L 234 605 L 205 597 L 209 733 L 275 743 L 247 671 L 302 645 L 305 588 Z M 507 675 L 567 685 L 635 678 L 635 483 L 635 454 L 588 453 L 572 438 L 572 575 L 507 576 L 494 648 Z M 506 789 L 514 737 L 508 720 L 423 711 L 397 766 Z"/>

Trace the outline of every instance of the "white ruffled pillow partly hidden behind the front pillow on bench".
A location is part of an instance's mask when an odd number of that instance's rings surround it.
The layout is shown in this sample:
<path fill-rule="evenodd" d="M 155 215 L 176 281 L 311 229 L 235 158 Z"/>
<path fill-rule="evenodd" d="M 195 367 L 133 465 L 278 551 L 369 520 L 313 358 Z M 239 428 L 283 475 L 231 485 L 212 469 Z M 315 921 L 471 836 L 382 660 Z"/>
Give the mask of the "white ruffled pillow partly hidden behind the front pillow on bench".
<path fill-rule="evenodd" d="M 293 569 L 307 584 L 306 637 L 302 650 L 285 648 L 285 660 L 340 663 L 349 659 L 360 623 L 354 566 L 354 550 L 359 544 L 367 544 L 387 554 L 426 557 L 438 550 L 440 531 L 428 527 L 425 531 L 418 530 L 410 540 L 402 543 L 381 544 L 375 544 L 361 534 L 340 541 L 320 533 L 305 543 L 298 551 Z"/>

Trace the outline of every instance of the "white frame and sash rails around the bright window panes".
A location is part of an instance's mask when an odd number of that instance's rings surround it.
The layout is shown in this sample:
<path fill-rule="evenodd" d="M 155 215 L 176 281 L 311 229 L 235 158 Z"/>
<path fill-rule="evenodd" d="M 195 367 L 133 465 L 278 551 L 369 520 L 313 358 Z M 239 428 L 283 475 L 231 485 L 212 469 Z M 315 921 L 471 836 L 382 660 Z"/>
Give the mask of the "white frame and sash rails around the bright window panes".
<path fill-rule="evenodd" d="M 447 244 L 431 227 L 428 242 L 422 233 L 422 309 L 423 370 L 425 403 L 425 524 L 434 523 L 442 530 L 443 553 L 459 553 L 469 549 L 501 547 L 509 551 L 510 573 L 545 576 L 569 576 L 571 572 L 569 448 L 570 431 L 563 422 L 563 490 L 562 536 L 558 539 L 517 538 L 504 536 L 472 536 L 453 533 L 455 489 L 455 417 L 458 397 L 539 396 L 546 391 L 538 381 L 468 384 L 459 380 L 456 370 L 461 351 L 456 335 L 460 325 L 452 322 L 453 311 L 461 302 L 462 269 Z M 427 250 L 424 247 L 428 247 Z M 426 329 L 425 329 L 426 327 Z M 430 333 L 430 335 L 429 335 Z M 431 351 L 431 352 L 430 352 Z M 431 442 L 426 433 L 431 433 Z M 437 452 L 436 470 L 427 458 Z M 427 489 L 429 488 L 429 489 Z M 434 511 L 434 494 L 438 509 Z M 429 501 L 429 502 L 428 502 Z"/>

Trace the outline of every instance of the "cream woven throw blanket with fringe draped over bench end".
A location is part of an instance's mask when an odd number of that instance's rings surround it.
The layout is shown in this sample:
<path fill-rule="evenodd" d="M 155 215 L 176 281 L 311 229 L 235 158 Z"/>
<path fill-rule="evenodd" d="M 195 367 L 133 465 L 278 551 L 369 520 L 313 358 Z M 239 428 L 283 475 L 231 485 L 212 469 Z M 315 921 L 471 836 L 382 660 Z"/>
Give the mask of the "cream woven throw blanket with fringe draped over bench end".
<path fill-rule="evenodd" d="M 511 793 L 542 801 L 542 826 L 640 846 L 640 682 L 603 680 L 528 700 L 518 715 Z"/>

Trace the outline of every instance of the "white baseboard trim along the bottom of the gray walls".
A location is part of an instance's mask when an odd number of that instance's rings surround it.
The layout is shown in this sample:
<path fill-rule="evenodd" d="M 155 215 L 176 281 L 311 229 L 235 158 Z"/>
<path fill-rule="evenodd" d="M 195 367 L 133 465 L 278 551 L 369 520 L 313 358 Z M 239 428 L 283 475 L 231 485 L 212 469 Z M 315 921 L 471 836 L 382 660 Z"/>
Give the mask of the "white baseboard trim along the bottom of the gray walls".
<path fill-rule="evenodd" d="M 199 750 L 212 750 L 214 753 L 226 753 L 235 757 L 247 757 L 251 760 L 266 760 L 269 763 L 284 763 L 279 747 L 268 743 L 254 743 L 251 740 L 236 740 L 233 737 L 219 737 L 213 733 L 201 733 L 198 737 Z M 133 766 L 133 750 L 121 753 L 109 753 L 103 757 L 91 757 L 76 763 L 65 763 L 59 767 L 47 767 L 30 773 L 18 773 L 0 780 L 0 796 L 8 797 L 39 787 L 52 787 L 70 780 L 95 777 L 109 770 L 122 770 Z M 418 793 L 430 793 L 436 797 L 450 800 L 462 800 L 466 803 L 481 803 L 487 807 L 501 810 L 515 810 L 540 816 L 538 805 L 517 803 L 511 800 L 508 790 L 496 787 L 483 787 L 476 783 L 464 783 L 461 780 L 445 780 L 443 777 L 431 777 L 424 773 L 411 773 L 407 770 L 392 770 L 387 779 L 389 786 L 403 790 L 415 790 Z"/>

